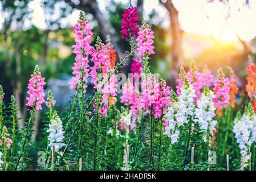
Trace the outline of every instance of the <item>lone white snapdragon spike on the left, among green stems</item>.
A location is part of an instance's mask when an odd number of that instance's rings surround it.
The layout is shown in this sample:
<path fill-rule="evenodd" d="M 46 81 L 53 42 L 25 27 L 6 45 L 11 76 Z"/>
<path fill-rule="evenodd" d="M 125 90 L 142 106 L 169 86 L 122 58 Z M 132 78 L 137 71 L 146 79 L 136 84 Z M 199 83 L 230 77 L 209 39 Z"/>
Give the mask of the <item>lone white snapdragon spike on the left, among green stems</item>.
<path fill-rule="evenodd" d="M 54 146 L 55 151 L 58 152 L 60 148 L 65 146 L 65 144 L 62 143 L 64 139 L 62 120 L 59 118 L 56 111 L 52 115 L 51 123 L 47 132 L 50 133 L 48 136 L 48 140 L 50 141 L 49 147 L 52 148 L 52 146 Z"/>

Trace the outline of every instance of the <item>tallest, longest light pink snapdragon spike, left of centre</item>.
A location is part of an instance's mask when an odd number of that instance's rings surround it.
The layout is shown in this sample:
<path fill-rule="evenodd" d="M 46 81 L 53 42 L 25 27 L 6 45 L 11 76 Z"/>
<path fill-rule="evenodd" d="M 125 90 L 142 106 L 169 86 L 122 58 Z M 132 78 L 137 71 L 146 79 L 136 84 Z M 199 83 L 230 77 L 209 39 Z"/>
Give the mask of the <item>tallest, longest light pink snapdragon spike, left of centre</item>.
<path fill-rule="evenodd" d="M 72 77 L 72 81 L 70 82 L 70 88 L 76 89 L 76 86 L 80 84 L 83 77 L 85 83 L 84 92 L 86 92 L 86 82 L 90 71 L 88 69 L 88 56 L 94 49 L 94 47 L 90 46 L 91 38 L 94 33 L 92 32 L 92 27 L 88 25 L 88 20 L 83 16 L 82 18 L 80 17 L 80 20 L 78 20 L 78 23 L 76 23 L 73 28 L 73 32 L 76 34 L 76 44 L 72 46 L 72 48 L 74 48 L 73 53 L 75 53 L 76 57 L 74 67 L 72 67 L 74 77 Z"/>

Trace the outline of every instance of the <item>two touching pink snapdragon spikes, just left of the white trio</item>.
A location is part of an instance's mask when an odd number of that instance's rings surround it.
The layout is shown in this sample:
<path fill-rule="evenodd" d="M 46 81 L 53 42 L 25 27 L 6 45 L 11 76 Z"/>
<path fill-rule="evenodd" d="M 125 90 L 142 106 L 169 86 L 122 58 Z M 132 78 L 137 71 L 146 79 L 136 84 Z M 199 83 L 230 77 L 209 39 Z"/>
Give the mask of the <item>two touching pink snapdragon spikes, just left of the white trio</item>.
<path fill-rule="evenodd" d="M 160 118 L 166 112 L 166 107 L 170 104 L 170 88 L 166 82 L 156 82 L 152 75 L 143 80 L 141 89 L 143 90 L 141 98 L 141 107 L 145 108 L 145 113 L 153 109 L 155 118 Z"/>

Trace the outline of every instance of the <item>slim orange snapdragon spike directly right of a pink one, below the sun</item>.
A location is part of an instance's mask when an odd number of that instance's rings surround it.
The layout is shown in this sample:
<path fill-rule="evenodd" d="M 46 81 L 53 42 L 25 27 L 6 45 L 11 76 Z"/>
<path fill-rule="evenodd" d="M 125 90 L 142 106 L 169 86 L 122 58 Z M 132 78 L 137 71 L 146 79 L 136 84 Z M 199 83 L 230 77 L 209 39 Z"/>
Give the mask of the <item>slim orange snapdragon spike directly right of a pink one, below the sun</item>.
<path fill-rule="evenodd" d="M 235 106 L 235 95 L 238 94 L 239 88 L 237 86 L 237 76 L 231 67 L 229 69 L 229 97 L 230 97 L 230 106 Z"/>

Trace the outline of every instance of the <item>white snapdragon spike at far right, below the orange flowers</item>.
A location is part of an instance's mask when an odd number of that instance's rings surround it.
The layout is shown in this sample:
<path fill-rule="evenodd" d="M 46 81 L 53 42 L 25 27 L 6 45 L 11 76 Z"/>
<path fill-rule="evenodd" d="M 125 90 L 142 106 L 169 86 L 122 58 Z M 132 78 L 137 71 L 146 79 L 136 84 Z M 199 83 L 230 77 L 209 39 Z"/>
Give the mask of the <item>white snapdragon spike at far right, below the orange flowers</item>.
<path fill-rule="evenodd" d="M 246 119 L 248 119 L 246 114 L 243 114 L 243 117 L 238 116 L 234 121 L 234 133 L 235 138 L 237 139 L 237 143 L 239 145 L 240 154 L 241 154 L 241 168 L 245 168 L 248 166 L 248 162 L 251 158 L 251 139 L 250 139 L 250 129 L 246 123 Z"/>

